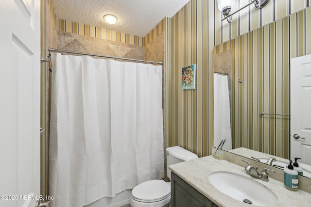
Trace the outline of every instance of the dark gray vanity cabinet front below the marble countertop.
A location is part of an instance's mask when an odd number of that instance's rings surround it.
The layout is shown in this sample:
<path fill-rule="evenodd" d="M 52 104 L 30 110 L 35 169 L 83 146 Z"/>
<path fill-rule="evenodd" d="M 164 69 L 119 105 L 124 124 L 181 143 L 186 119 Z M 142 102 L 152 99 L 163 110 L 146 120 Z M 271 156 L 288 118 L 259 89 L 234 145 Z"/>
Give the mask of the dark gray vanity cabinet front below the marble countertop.
<path fill-rule="evenodd" d="M 171 207 L 217 207 L 183 179 L 171 173 Z"/>

